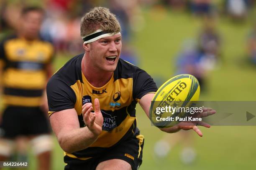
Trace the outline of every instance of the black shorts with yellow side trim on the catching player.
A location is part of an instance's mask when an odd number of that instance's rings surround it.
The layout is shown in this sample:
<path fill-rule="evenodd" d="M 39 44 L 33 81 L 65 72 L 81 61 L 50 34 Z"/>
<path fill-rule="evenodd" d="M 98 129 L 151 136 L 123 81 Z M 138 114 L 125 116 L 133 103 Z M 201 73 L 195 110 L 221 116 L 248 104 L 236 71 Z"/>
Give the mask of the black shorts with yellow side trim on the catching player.
<path fill-rule="evenodd" d="M 64 170 L 95 170 L 99 163 L 111 159 L 125 160 L 131 165 L 132 170 L 137 170 L 142 163 L 143 144 L 143 136 L 137 135 L 109 148 L 95 158 L 79 160 L 65 156 L 64 162 L 67 165 Z"/>

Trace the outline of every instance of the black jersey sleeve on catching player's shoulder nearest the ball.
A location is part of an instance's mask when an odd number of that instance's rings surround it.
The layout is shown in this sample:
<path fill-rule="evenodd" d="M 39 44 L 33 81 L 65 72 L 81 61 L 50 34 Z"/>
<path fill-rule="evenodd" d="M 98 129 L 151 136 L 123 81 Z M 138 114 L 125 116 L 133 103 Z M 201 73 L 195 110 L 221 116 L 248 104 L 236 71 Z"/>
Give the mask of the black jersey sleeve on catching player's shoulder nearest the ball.
<path fill-rule="evenodd" d="M 136 70 L 133 74 L 133 99 L 141 99 L 143 95 L 156 91 L 157 87 L 153 78 L 144 70 Z"/>

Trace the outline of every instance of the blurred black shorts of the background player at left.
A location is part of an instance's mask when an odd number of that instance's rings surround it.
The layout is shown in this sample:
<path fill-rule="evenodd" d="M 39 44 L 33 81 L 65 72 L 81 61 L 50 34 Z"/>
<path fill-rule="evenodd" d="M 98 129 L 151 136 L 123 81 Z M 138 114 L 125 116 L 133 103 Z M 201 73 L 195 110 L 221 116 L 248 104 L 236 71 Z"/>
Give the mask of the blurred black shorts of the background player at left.
<path fill-rule="evenodd" d="M 40 107 L 8 106 L 2 114 L 0 137 L 14 139 L 19 135 L 50 133 L 49 119 Z"/>

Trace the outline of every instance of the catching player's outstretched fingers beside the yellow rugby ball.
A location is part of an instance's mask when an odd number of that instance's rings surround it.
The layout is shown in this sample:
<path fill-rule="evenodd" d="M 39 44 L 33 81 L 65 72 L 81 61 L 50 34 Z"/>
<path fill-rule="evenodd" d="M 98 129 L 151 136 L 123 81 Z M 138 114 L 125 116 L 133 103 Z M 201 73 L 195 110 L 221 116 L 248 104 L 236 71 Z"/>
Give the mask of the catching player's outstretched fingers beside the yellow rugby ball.
<path fill-rule="evenodd" d="M 204 107 L 202 112 L 198 112 L 194 114 L 192 117 L 207 117 L 216 113 L 216 110 L 210 107 Z M 202 137 L 201 130 L 197 127 L 198 125 L 204 126 L 206 128 L 210 128 L 211 126 L 203 121 L 184 121 L 177 124 L 177 127 L 182 130 L 190 130 L 193 129 L 199 136 Z"/>

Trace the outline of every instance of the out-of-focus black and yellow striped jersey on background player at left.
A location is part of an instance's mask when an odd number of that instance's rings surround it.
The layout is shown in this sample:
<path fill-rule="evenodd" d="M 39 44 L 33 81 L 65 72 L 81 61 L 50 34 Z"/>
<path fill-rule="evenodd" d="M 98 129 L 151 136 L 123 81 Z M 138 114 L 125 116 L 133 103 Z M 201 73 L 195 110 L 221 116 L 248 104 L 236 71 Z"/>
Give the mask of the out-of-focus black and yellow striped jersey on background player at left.
<path fill-rule="evenodd" d="M 3 104 L 36 107 L 46 86 L 46 65 L 51 62 L 51 43 L 11 36 L 0 43 Z"/>

